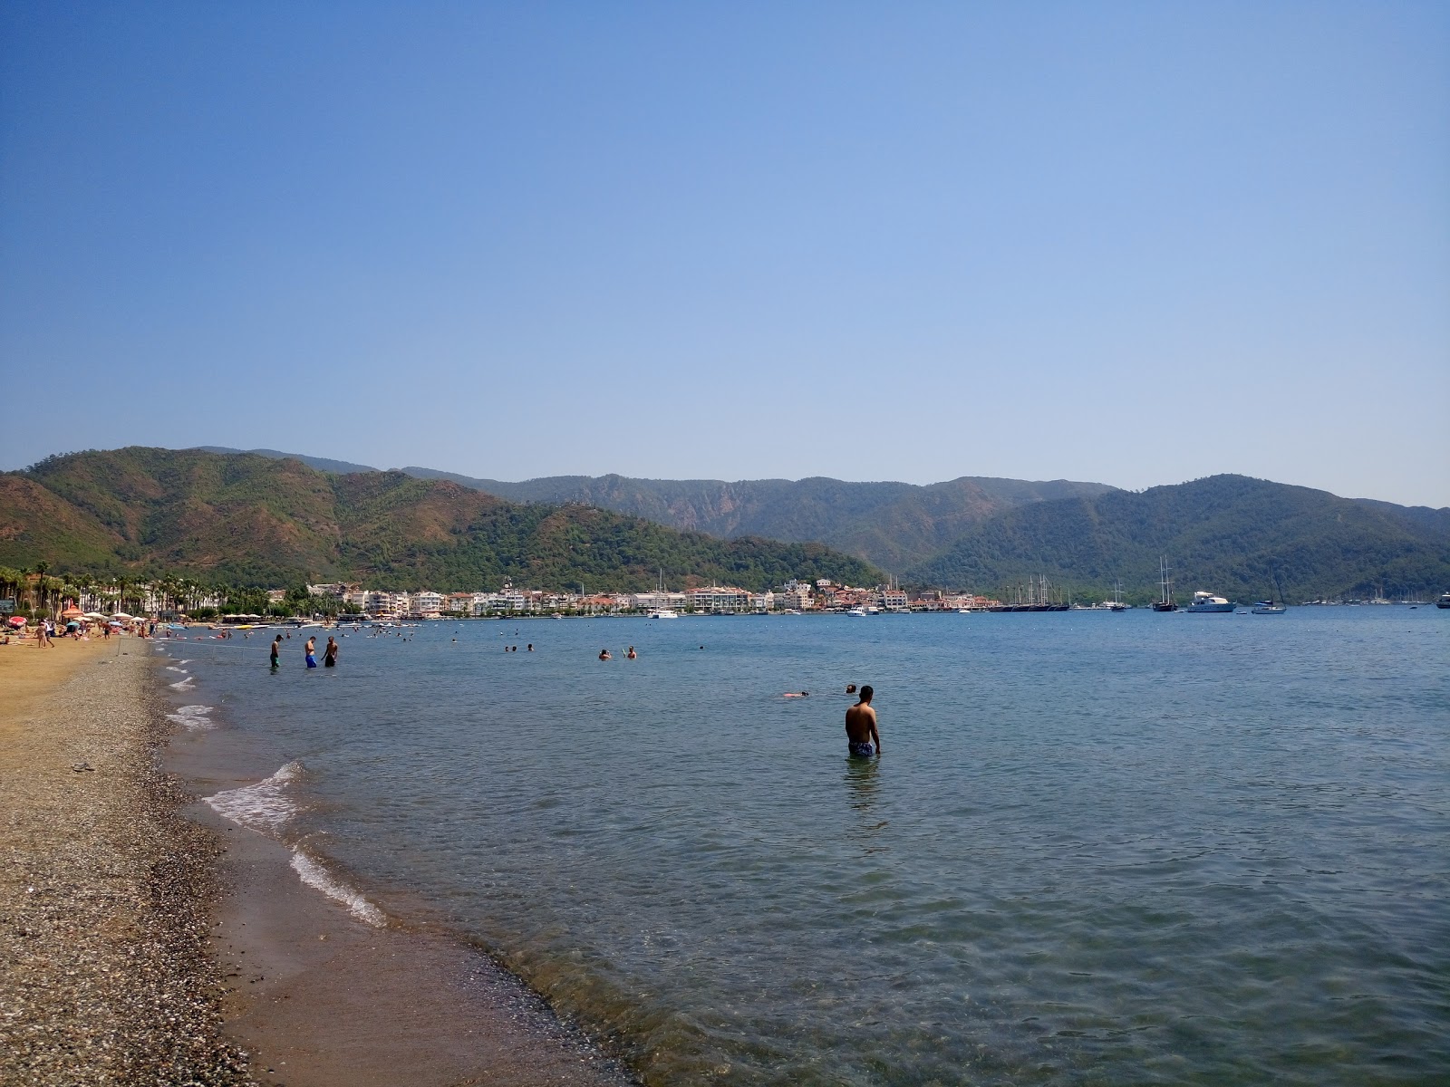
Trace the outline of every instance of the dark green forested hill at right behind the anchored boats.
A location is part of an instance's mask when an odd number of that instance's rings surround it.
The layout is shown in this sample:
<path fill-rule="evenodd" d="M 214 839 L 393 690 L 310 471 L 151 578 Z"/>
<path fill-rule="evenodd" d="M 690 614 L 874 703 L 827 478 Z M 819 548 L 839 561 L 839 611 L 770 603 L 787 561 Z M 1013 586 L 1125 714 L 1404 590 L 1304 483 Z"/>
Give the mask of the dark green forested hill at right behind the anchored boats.
<path fill-rule="evenodd" d="M 1089 499 L 1043 501 L 976 528 L 906 577 L 996 590 L 1045 574 L 1082 593 L 1121 580 L 1154 597 L 1167 555 L 1180 596 L 1196 588 L 1253 600 L 1386 593 L 1428 597 L 1450 588 L 1450 510 L 1340 499 L 1308 487 L 1214 475 Z"/>

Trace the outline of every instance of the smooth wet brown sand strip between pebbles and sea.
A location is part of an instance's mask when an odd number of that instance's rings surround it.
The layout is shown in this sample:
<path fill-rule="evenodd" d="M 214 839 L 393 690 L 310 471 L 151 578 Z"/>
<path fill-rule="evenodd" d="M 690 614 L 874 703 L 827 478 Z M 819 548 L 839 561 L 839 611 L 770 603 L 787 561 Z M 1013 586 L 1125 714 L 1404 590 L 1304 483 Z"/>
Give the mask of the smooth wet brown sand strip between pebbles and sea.
<path fill-rule="evenodd" d="M 204 700 L 204 683 L 186 697 Z M 225 725 L 177 728 L 164 759 L 186 793 L 184 817 L 223 842 L 210 916 L 223 1032 L 249 1054 L 258 1084 L 639 1083 L 483 951 L 360 909 L 304 852 L 204 801 L 271 777 L 274 752 Z"/>

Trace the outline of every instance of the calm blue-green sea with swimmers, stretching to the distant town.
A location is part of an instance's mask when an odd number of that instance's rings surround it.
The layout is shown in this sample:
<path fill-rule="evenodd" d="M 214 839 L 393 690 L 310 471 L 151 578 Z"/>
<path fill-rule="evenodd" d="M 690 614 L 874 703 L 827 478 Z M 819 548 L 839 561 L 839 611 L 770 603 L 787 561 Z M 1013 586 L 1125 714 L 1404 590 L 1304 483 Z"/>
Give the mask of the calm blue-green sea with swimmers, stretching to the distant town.
<path fill-rule="evenodd" d="M 174 644 L 177 704 L 294 764 L 241 817 L 650 1083 L 1450 1077 L 1447 612 L 406 633 Z"/>

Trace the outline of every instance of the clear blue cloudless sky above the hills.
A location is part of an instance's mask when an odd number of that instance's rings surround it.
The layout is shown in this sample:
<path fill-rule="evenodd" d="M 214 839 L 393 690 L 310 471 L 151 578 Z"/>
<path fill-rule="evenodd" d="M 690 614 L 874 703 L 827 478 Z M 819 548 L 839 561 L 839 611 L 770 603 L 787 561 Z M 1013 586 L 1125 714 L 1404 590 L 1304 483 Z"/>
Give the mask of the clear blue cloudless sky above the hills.
<path fill-rule="evenodd" d="M 1450 504 L 1450 4 L 0 6 L 0 467 Z"/>

